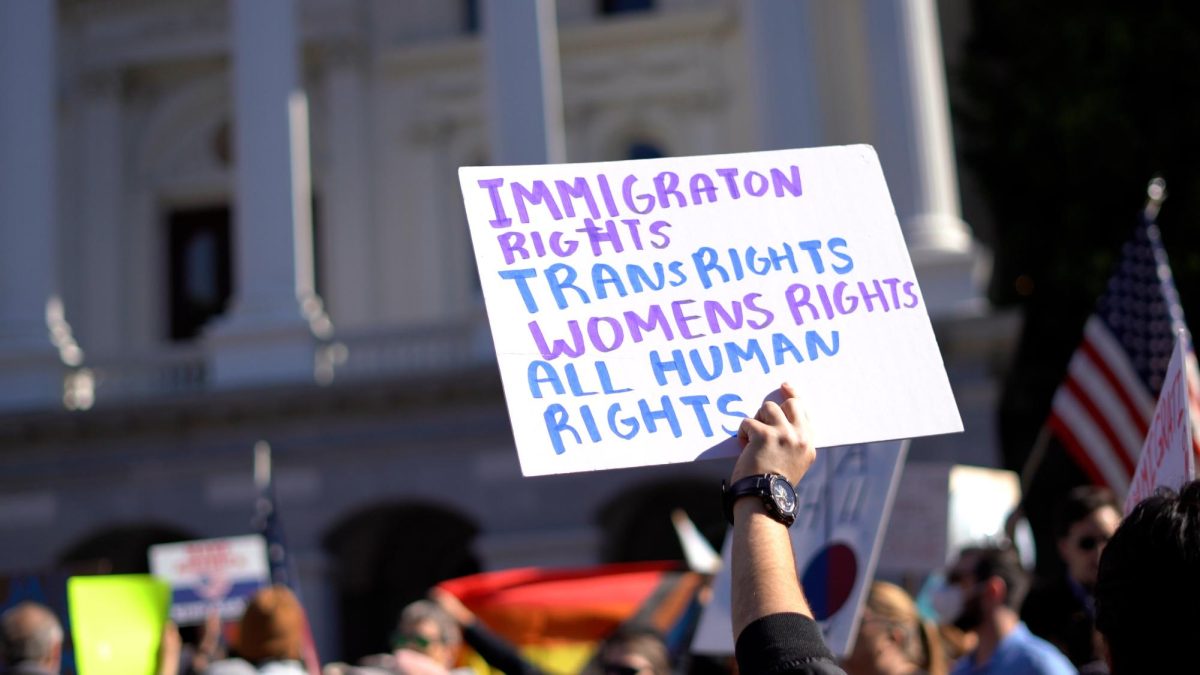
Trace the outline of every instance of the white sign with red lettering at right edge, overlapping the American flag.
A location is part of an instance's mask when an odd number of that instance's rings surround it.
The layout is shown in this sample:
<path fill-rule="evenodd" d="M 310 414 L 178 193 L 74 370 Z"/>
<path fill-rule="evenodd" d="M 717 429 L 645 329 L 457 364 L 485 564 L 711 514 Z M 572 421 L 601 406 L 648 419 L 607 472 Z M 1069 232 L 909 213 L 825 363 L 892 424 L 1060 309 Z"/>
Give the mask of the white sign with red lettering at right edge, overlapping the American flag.
<path fill-rule="evenodd" d="M 1192 416 L 1188 399 L 1188 378 L 1183 365 L 1187 363 L 1184 346 L 1187 336 L 1181 330 L 1175 338 L 1175 351 L 1166 366 L 1163 388 L 1158 393 L 1158 405 L 1150 423 L 1146 441 L 1141 444 L 1138 468 L 1129 482 L 1124 512 L 1154 494 L 1160 485 L 1178 490 L 1184 483 L 1195 480 L 1195 452 L 1192 449 Z"/>

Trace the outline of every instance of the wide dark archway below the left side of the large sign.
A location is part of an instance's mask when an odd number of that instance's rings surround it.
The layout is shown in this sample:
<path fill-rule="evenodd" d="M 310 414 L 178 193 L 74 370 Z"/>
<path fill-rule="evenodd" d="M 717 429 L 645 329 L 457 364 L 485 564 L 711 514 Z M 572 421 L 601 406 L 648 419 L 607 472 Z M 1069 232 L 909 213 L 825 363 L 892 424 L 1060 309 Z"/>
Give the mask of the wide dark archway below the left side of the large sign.
<path fill-rule="evenodd" d="M 383 504 L 350 515 L 325 536 L 336 566 L 342 659 L 389 650 L 400 610 L 438 581 L 480 571 L 478 527 L 433 504 Z"/>

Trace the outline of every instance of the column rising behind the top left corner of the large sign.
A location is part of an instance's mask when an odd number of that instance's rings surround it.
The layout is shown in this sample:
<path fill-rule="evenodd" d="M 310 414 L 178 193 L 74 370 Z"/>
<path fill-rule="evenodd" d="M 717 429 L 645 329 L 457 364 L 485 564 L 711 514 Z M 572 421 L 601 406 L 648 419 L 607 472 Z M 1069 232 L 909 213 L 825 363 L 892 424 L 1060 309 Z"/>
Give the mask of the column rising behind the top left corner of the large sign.
<path fill-rule="evenodd" d="M 566 161 L 554 0 L 481 0 L 492 163 Z"/>

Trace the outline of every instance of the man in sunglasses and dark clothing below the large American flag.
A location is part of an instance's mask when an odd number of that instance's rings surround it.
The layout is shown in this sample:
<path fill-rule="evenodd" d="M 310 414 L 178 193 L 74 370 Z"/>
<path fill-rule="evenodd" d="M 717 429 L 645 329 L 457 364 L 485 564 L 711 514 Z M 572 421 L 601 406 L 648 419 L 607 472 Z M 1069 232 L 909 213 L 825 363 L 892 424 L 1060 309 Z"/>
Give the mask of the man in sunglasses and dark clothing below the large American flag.
<path fill-rule="evenodd" d="M 1076 668 L 1103 662 L 1092 592 L 1100 554 L 1120 524 L 1121 507 L 1110 490 L 1082 485 L 1068 492 L 1054 516 L 1055 542 L 1066 569 L 1034 585 L 1021 607 L 1030 631 L 1062 650 Z"/>

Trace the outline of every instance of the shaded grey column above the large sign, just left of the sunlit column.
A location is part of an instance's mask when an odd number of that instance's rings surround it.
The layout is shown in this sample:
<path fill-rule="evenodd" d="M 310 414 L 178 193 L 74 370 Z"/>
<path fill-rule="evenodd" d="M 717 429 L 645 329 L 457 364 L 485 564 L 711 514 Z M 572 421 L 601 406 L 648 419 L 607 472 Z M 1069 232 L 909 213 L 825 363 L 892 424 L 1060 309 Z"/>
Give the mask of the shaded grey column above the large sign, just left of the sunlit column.
<path fill-rule="evenodd" d="M 750 52 L 752 100 L 758 108 L 760 149 L 821 144 L 811 1 L 750 0 L 740 4 Z"/>

